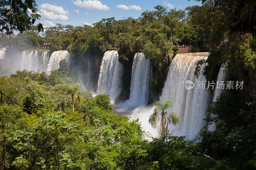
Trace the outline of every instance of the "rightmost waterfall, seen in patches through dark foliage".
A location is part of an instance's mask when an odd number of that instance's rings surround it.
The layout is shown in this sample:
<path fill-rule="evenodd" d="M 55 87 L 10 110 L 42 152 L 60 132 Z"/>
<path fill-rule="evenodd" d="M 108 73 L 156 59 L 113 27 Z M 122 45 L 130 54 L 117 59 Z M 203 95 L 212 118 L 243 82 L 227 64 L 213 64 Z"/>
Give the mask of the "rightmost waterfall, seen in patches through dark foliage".
<path fill-rule="evenodd" d="M 227 76 L 227 69 L 225 68 L 225 64 L 222 63 L 222 65 L 221 65 L 221 67 L 220 67 L 219 74 L 218 74 L 217 82 L 220 82 L 220 81 L 227 81 L 227 79 L 228 79 L 228 76 Z M 212 102 L 217 101 L 217 98 L 220 97 L 220 94 L 223 93 L 223 92 L 225 92 L 225 91 L 226 91 L 225 89 L 219 89 L 219 88 L 216 88 L 216 87 L 215 87 Z M 209 131 L 216 130 L 216 124 L 215 124 L 214 122 L 213 122 L 212 124 L 210 124 L 210 125 L 208 126 L 208 130 L 209 130 Z"/>

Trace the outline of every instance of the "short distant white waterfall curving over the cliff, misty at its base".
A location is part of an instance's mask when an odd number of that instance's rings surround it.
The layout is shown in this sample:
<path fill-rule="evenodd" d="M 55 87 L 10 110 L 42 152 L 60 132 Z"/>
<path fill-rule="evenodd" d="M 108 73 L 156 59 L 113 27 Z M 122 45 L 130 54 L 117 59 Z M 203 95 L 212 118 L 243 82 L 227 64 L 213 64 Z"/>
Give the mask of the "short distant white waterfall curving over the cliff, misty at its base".
<path fill-rule="evenodd" d="M 50 74 L 52 70 L 57 70 L 60 67 L 60 60 L 63 59 L 66 59 L 67 62 L 70 60 L 70 55 L 67 50 L 54 51 L 47 66 L 47 74 Z"/>

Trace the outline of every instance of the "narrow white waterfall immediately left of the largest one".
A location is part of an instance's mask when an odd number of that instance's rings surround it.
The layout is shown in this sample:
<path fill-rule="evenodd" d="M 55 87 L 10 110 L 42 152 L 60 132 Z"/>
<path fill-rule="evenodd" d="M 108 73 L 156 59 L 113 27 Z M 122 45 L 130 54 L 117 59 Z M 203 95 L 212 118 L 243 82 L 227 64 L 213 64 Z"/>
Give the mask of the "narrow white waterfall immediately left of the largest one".
<path fill-rule="evenodd" d="M 132 64 L 130 102 L 134 106 L 145 106 L 152 97 L 150 78 L 152 67 L 143 53 L 136 53 Z"/>

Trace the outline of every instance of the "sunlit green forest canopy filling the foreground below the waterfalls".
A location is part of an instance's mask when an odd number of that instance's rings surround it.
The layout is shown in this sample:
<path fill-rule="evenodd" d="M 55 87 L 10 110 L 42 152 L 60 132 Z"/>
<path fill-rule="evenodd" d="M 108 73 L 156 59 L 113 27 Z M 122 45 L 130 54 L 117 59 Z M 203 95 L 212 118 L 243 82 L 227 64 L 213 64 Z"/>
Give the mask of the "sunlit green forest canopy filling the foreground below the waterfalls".
<path fill-rule="evenodd" d="M 23 73 L 23 74 L 22 74 Z M 225 167 L 196 152 L 198 145 L 170 134 L 151 138 L 139 120 L 112 112 L 109 97 L 68 96 L 79 86 L 40 84 L 27 71 L 0 77 L 1 91 L 38 114 L 3 97 L 0 103 L 2 169 L 205 169 Z M 38 76 L 37 76 L 38 77 Z M 77 94 L 76 94 L 77 93 Z M 67 99 L 67 100 L 66 100 Z M 74 106 L 74 112 L 73 112 Z M 65 110 L 65 111 L 64 111 Z"/>

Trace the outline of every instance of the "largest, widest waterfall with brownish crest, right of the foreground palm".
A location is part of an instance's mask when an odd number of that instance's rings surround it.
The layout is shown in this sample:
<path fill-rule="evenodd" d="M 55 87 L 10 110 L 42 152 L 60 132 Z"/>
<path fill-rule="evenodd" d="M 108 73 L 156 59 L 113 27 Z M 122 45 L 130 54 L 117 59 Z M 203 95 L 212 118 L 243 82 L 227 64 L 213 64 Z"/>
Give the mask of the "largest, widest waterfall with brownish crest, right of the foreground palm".
<path fill-rule="evenodd" d="M 207 107 L 210 104 L 210 95 L 206 89 L 197 89 L 197 85 L 206 81 L 203 75 L 197 79 L 194 75 L 195 63 L 207 59 L 209 53 L 180 53 L 177 54 L 170 67 L 162 93 L 163 100 L 171 100 L 172 108 L 169 111 L 179 116 L 180 124 L 169 125 L 170 133 L 175 136 L 196 137 L 197 132 L 206 123 Z M 195 87 L 186 90 L 185 82 L 190 80 Z"/>

